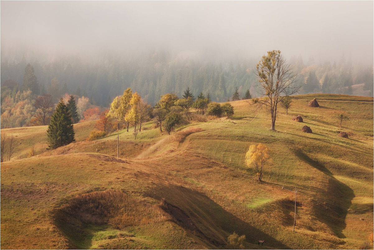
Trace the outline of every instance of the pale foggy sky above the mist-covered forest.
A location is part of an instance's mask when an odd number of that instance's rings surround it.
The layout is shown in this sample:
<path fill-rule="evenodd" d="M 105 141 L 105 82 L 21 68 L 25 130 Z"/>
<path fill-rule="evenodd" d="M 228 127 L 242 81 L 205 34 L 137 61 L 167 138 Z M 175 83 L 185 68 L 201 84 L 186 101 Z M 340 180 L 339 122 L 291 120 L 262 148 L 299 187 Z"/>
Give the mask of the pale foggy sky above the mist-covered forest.
<path fill-rule="evenodd" d="M 373 1 L 1 1 L 1 50 L 146 49 L 373 63 Z"/>

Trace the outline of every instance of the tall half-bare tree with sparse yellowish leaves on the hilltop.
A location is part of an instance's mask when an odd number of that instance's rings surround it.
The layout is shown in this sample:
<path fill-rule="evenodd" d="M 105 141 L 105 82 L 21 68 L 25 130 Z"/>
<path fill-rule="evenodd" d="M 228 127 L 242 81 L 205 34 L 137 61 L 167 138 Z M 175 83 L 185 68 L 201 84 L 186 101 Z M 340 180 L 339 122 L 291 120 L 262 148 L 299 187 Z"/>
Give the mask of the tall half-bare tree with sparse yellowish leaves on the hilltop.
<path fill-rule="evenodd" d="M 285 96 L 295 94 L 301 86 L 295 86 L 297 74 L 293 72 L 293 67 L 286 63 L 281 51 L 268 51 L 256 65 L 255 75 L 258 77 L 261 99 L 251 99 L 251 104 L 265 105 L 272 116 L 272 126 L 270 130 L 275 130 L 278 103 Z"/>

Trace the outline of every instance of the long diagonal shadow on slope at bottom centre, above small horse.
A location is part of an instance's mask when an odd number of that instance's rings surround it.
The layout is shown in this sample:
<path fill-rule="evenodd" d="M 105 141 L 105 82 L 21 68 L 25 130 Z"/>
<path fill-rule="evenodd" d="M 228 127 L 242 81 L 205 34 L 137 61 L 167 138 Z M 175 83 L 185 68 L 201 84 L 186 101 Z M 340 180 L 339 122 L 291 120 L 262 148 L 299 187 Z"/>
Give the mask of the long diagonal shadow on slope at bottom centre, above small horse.
<path fill-rule="evenodd" d="M 258 240 L 265 239 L 269 247 L 290 249 L 289 246 L 224 210 L 196 190 L 171 184 L 153 183 L 153 185 L 154 188 L 144 195 L 157 200 L 165 198 L 168 204 L 181 211 L 178 214 L 183 213 L 188 217 L 187 225 L 184 219 L 176 219 L 177 223 L 213 249 L 225 247 L 227 237 L 233 232 L 245 235 L 247 243 L 256 243 Z M 193 225 L 190 225 L 191 223 Z M 194 230 L 192 231 L 191 228 Z"/>

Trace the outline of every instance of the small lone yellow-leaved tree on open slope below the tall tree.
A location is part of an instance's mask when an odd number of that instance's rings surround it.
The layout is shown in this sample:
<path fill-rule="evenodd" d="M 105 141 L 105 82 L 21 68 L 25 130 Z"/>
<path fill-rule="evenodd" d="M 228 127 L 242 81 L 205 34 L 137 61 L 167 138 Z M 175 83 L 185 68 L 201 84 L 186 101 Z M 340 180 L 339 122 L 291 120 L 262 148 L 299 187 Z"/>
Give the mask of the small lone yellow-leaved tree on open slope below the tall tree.
<path fill-rule="evenodd" d="M 263 177 L 264 165 L 270 159 L 270 153 L 270 149 L 266 145 L 259 143 L 258 145 L 251 145 L 245 155 L 247 166 L 254 166 L 257 170 L 258 181 L 261 181 Z"/>

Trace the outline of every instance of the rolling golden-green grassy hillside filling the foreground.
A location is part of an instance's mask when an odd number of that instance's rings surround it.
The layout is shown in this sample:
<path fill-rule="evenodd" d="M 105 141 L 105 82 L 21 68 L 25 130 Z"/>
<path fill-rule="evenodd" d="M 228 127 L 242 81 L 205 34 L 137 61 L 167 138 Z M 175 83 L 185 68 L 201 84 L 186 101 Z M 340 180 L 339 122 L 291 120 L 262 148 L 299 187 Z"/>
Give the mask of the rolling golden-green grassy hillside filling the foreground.
<path fill-rule="evenodd" d="M 307 106 L 314 97 L 319 108 Z M 78 142 L 31 158 L 45 127 L 1 130 L 23 139 L 15 160 L 1 164 L 1 247 L 220 249 L 234 231 L 248 249 L 357 249 L 367 240 L 373 98 L 295 96 L 288 115 L 279 109 L 276 131 L 266 110 L 231 103 L 232 120 L 170 136 L 147 123 L 136 140 L 130 129 L 85 142 L 93 123 L 77 124 Z M 339 127 L 341 113 L 350 119 Z M 291 120 L 299 114 L 304 123 Z M 117 135 L 122 159 L 112 157 Z M 261 183 L 244 163 L 259 142 L 272 150 Z M 298 189 L 295 232 L 294 193 L 282 185 Z"/>

